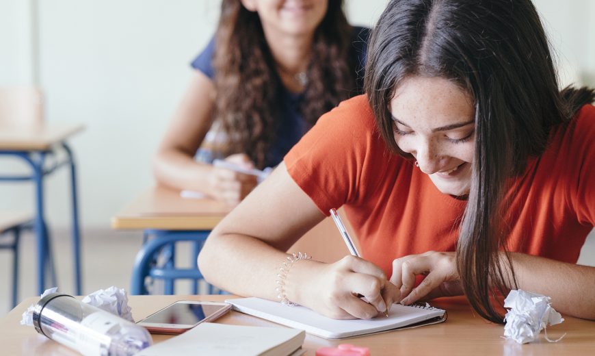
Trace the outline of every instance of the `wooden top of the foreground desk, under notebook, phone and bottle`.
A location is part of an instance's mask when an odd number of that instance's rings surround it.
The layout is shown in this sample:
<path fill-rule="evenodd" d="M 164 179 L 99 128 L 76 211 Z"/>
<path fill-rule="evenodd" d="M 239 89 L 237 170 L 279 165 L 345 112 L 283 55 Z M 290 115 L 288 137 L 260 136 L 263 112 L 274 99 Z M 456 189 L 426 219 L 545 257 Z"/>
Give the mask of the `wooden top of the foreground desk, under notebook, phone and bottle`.
<path fill-rule="evenodd" d="M 222 301 L 233 296 L 130 296 L 129 305 L 135 320 L 141 320 L 174 301 Z M 0 320 L 0 345 L 3 355 L 77 355 L 74 351 L 36 333 L 34 327 L 19 325 L 21 314 L 38 298 L 27 298 Z M 561 325 L 548 329 L 551 339 L 540 339 L 530 344 L 516 344 L 503 340 L 503 326 L 495 325 L 475 316 L 462 298 L 441 299 L 432 303 L 447 310 L 449 318 L 438 325 L 401 331 L 388 331 L 347 340 L 326 340 L 306 334 L 305 355 L 314 355 L 317 348 L 341 343 L 367 346 L 371 355 L 592 355 L 595 350 L 595 322 L 565 317 Z M 230 312 L 217 320 L 224 324 L 278 326 L 238 312 Z M 279 326 L 280 327 L 280 326 Z M 154 342 L 170 338 L 153 335 Z M 198 351 L 198 348 L 197 348 Z"/>

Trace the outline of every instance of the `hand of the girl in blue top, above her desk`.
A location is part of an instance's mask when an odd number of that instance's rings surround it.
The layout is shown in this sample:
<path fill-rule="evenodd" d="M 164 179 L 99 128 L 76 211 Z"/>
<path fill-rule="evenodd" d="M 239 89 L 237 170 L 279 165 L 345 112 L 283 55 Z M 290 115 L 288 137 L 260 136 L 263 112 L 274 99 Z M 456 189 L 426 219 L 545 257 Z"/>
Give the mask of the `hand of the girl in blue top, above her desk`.
<path fill-rule="evenodd" d="M 254 168 L 254 163 L 244 153 L 230 155 L 225 160 L 242 168 Z M 252 192 L 257 183 L 254 175 L 245 175 L 234 170 L 213 167 L 209 175 L 209 192 L 217 200 L 225 201 L 229 205 L 238 205 L 242 199 Z"/>

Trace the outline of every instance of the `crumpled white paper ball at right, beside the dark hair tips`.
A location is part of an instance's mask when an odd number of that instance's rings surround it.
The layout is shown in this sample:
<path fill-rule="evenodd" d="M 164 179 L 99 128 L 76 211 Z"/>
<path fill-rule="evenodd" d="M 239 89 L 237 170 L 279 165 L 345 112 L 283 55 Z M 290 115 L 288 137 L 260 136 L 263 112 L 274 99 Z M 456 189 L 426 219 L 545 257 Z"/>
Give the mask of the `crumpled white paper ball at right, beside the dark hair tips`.
<path fill-rule="evenodd" d="M 504 307 L 510 308 L 504 317 L 504 337 L 519 344 L 526 344 L 539 337 L 547 325 L 556 325 L 564 318 L 551 307 L 551 298 L 523 290 L 511 290 L 504 300 Z M 566 335 L 566 334 L 564 334 Z M 562 335 L 561 338 L 564 338 Z M 557 342 L 561 340 L 546 340 Z"/>

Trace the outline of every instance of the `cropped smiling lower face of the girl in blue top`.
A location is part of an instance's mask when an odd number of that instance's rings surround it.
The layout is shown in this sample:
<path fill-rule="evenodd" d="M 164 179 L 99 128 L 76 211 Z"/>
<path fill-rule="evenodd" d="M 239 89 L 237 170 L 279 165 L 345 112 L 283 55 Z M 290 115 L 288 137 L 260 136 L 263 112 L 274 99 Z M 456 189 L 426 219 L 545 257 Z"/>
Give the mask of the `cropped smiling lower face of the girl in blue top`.
<path fill-rule="evenodd" d="M 328 0 L 241 0 L 259 13 L 263 28 L 286 35 L 313 34 L 321 23 Z"/>

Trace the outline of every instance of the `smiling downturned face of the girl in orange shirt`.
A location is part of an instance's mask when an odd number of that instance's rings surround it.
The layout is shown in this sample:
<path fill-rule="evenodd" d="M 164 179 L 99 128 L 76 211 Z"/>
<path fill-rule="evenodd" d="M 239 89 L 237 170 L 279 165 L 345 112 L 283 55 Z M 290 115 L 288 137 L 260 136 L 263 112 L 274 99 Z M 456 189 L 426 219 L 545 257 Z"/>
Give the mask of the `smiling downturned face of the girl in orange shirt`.
<path fill-rule="evenodd" d="M 475 153 L 473 99 L 440 77 L 404 79 L 391 99 L 395 142 L 445 194 L 468 194 Z"/>

